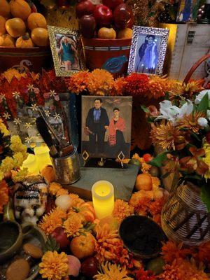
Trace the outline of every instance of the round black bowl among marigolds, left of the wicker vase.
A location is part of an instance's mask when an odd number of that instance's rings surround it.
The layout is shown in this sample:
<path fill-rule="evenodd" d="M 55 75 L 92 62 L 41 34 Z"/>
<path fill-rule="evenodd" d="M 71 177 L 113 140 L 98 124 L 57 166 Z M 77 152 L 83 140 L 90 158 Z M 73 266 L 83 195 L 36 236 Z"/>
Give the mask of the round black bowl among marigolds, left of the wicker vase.
<path fill-rule="evenodd" d="M 155 258 L 167 237 L 157 223 L 145 216 L 129 216 L 119 229 L 125 247 L 139 258 Z"/>

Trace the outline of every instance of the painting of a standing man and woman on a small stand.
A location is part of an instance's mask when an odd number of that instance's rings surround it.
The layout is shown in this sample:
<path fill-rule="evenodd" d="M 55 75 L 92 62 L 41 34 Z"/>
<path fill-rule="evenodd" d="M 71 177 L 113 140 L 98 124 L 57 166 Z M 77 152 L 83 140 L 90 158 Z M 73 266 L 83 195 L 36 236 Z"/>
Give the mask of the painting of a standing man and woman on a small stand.
<path fill-rule="evenodd" d="M 82 97 L 81 152 L 90 158 L 130 158 L 132 97 Z"/>

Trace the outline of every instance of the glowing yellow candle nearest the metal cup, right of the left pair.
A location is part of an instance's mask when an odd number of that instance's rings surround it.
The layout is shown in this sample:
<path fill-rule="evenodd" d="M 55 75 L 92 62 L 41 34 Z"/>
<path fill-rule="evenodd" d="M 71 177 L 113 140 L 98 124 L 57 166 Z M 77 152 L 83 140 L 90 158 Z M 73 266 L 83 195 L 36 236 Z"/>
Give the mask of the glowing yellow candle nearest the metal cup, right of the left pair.
<path fill-rule="evenodd" d="M 46 165 L 52 165 L 49 151 L 50 150 L 48 146 L 46 146 L 45 144 L 34 148 L 34 153 L 36 155 L 36 161 L 38 163 L 38 168 L 40 172 Z"/>

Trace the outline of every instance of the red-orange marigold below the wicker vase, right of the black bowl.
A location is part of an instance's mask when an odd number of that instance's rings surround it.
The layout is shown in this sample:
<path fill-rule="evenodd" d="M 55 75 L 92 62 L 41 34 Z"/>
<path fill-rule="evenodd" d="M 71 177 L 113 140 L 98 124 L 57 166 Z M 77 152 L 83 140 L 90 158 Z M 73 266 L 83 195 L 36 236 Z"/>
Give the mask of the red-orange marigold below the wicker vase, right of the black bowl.
<path fill-rule="evenodd" d="M 189 248 L 183 248 L 183 244 L 176 244 L 174 241 L 167 241 L 162 246 L 162 255 L 165 261 L 171 264 L 174 260 L 184 259 L 192 251 Z"/>

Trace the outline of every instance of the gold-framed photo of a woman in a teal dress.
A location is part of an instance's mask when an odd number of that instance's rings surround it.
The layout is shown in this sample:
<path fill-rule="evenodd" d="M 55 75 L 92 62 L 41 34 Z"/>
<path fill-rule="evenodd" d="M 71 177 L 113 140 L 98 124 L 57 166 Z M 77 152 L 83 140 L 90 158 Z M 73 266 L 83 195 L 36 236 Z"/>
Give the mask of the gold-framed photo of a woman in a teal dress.
<path fill-rule="evenodd" d="M 56 76 L 71 76 L 84 70 L 85 59 L 79 31 L 48 25 L 48 33 Z"/>

